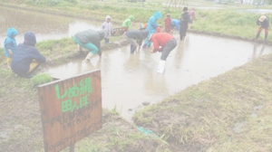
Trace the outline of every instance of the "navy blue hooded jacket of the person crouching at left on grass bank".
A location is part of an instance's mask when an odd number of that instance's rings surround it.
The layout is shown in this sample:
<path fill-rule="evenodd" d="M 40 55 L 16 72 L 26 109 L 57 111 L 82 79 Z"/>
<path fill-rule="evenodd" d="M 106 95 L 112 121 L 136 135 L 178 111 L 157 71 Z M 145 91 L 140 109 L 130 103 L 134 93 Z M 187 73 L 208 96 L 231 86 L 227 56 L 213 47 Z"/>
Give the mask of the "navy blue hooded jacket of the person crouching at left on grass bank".
<path fill-rule="evenodd" d="M 24 43 L 20 43 L 15 50 L 13 61 L 11 63 L 12 70 L 18 75 L 24 75 L 30 69 L 30 63 L 36 60 L 44 63 L 44 56 L 34 47 L 36 37 L 34 33 L 24 34 Z"/>

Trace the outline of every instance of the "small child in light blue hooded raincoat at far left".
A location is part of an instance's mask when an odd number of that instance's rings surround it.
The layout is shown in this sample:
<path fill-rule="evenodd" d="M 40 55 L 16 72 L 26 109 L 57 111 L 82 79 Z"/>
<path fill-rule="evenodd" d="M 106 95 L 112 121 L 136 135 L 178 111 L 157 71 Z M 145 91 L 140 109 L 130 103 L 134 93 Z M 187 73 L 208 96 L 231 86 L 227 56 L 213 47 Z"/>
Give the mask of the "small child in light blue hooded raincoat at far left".
<path fill-rule="evenodd" d="M 4 47 L 5 47 L 5 56 L 6 56 L 6 63 L 7 67 L 10 68 L 11 62 L 12 62 L 12 57 L 13 54 L 15 53 L 15 49 L 17 46 L 15 36 L 18 34 L 18 31 L 11 27 L 7 29 L 6 32 L 6 38 L 4 42 Z"/>

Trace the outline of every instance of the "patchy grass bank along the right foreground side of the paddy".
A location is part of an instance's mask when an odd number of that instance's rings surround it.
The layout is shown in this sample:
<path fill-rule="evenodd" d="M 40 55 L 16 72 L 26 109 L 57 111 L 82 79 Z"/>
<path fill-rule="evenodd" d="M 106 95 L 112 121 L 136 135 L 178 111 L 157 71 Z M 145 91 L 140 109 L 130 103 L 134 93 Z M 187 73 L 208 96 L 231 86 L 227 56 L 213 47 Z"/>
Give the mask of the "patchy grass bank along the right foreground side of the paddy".
<path fill-rule="evenodd" d="M 165 134 L 165 139 L 171 138 L 170 141 L 184 147 L 194 145 L 206 151 L 269 151 L 271 59 L 270 54 L 200 82 L 138 111 L 133 119 L 136 124 Z M 262 108 L 256 109 L 257 106 Z"/>

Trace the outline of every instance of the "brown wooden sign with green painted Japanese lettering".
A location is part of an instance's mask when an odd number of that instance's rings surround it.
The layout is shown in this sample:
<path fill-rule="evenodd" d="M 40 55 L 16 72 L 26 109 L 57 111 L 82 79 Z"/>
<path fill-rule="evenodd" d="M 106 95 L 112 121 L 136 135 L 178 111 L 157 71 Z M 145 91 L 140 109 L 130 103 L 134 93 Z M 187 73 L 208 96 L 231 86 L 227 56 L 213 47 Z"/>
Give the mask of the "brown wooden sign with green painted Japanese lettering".
<path fill-rule="evenodd" d="M 101 71 L 38 86 L 45 152 L 60 151 L 102 128 Z"/>

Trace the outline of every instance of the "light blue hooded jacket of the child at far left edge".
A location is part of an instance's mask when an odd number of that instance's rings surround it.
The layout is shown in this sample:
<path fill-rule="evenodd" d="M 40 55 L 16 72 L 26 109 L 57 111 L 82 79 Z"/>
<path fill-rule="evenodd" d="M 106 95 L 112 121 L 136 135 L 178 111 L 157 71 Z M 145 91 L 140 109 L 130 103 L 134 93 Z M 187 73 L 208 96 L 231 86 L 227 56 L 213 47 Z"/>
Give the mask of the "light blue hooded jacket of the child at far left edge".
<path fill-rule="evenodd" d="M 15 35 L 17 34 L 18 34 L 18 31 L 15 28 L 11 27 L 7 29 L 6 38 L 4 42 L 4 47 L 5 47 L 4 51 L 5 51 L 6 57 L 10 57 L 8 49 L 10 49 L 13 53 L 15 53 L 15 48 L 17 46 Z"/>

